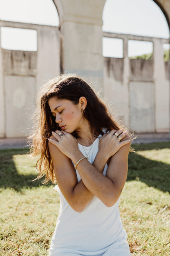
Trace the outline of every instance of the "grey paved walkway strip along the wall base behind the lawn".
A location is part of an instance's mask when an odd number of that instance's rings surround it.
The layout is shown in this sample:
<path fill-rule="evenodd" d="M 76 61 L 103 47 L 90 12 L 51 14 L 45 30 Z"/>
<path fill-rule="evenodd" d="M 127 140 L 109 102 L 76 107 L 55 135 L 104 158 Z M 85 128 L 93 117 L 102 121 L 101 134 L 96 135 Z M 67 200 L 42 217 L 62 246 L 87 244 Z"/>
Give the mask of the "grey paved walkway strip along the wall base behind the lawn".
<path fill-rule="evenodd" d="M 152 142 L 170 142 L 169 133 L 141 133 L 135 134 L 136 139 L 132 144 L 152 143 Z M 0 139 L 0 149 L 22 149 L 28 147 L 26 138 L 3 138 Z"/>

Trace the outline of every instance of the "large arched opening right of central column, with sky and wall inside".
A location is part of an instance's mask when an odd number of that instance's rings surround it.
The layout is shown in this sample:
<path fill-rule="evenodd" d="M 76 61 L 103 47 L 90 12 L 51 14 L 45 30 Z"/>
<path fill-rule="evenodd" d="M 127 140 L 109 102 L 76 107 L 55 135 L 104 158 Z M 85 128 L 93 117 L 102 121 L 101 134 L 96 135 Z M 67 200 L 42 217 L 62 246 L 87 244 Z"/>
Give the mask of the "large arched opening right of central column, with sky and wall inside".
<path fill-rule="evenodd" d="M 168 133 L 170 129 L 169 62 L 165 53 L 169 48 L 169 24 L 158 1 L 105 2 L 105 96 L 113 110 L 120 113 L 120 119 L 136 133 Z M 109 50 L 106 43 L 116 39 L 123 40 L 122 57 L 108 54 L 113 52 L 111 47 L 116 47 L 112 44 Z M 166 96 L 161 90 L 166 91 Z"/>

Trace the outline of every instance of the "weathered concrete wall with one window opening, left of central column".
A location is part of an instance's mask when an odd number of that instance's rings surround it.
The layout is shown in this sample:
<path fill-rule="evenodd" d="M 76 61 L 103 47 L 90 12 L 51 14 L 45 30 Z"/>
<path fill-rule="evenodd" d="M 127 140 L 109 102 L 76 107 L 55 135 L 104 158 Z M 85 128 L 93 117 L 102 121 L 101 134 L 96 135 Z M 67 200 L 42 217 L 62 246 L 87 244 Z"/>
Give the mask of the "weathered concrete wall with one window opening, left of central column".
<path fill-rule="evenodd" d="M 36 52 L 0 48 L 0 137 L 26 137 L 39 87 L 60 74 L 60 33 L 45 25 L 0 21 L 1 26 L 37 30 Z"/>

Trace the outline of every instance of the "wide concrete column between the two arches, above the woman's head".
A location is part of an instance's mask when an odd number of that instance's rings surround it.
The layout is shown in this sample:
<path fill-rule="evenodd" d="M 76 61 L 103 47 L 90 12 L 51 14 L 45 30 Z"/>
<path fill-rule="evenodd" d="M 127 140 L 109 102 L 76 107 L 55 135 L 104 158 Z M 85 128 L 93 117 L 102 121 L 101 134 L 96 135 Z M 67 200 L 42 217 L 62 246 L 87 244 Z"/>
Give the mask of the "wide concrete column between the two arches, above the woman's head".
<path fill-rule="evenodd" d="M 102 13 L 105 0 L 54 2 L 59 7 L 62 71 L 76 73 L 88 83 L 92 82 L 95 91 L 103 89 Z"/>

